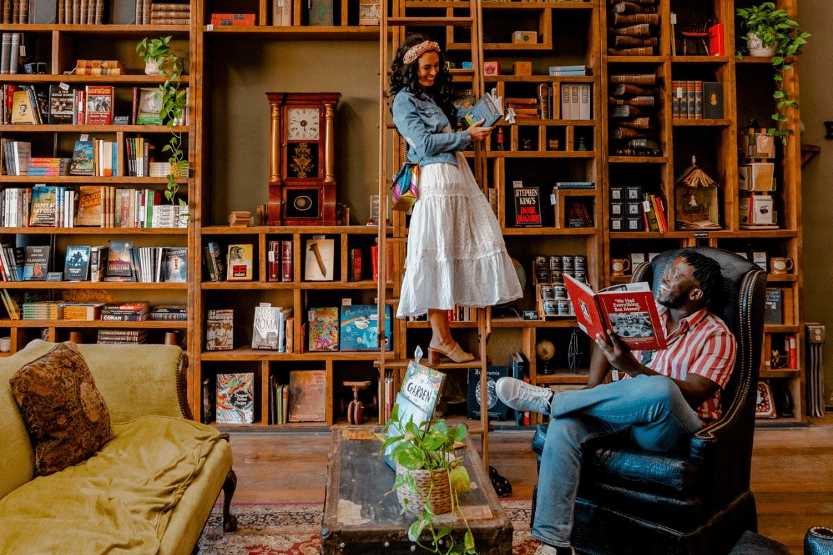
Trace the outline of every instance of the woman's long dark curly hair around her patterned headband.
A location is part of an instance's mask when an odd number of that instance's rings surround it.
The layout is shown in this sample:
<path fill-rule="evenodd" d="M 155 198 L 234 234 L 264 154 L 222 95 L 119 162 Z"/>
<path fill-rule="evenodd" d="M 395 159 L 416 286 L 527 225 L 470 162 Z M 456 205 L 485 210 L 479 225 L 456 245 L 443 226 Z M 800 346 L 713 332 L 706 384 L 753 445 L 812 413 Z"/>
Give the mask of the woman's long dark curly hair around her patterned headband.
<path fill-rule="evenodd" d="M 393 97 L 397 96 L 397 92 L 402 90 L 418 95 L 422 89 L 419 86 L 419 59 L 411 63 L 405 63 L 402 58 L 405 53 L 417 44 L 423 41 L 431 40 L 427 35 L 415 33 L 405 39 L 399 45 L 396 57 L 393 58 L 391 64 L 391 78 L 388 80 L 387 96 L 393 101 Z M 431 51 L 436 52 L 436 51 Z M 445 52 L 441 50 L 436 52 L 440 57 L 440 71 L 437 72 L 434 84 L 428 87 L 427 92 L 434 97 L 434 102 L 440 107 L 448 121 L 451 121 L 451 126 L 456 122 L 456 110 L 454 109 L 454 99 L 451 94 L 451 72 L 448 71 L 448 58 Z M 393 108 L 391 108 L 393 110 Z"/>

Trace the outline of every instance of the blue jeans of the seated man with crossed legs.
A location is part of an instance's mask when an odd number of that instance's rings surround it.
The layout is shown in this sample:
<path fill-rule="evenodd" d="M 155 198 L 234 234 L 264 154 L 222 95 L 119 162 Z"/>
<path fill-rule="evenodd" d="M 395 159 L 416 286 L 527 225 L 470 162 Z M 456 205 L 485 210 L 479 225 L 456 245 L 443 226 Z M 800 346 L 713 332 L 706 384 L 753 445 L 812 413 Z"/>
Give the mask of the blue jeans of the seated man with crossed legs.
<path fill-rule="evenodd" d="M 532 538 L 570 546 L 573 507 L 586 442 L 626 434 L 648 451 L 666 453 L 684 447 L 701 421 L 680 389 L 665 376 L 640 375 L 593 389 L 556 394 L 541 453 Z"/>

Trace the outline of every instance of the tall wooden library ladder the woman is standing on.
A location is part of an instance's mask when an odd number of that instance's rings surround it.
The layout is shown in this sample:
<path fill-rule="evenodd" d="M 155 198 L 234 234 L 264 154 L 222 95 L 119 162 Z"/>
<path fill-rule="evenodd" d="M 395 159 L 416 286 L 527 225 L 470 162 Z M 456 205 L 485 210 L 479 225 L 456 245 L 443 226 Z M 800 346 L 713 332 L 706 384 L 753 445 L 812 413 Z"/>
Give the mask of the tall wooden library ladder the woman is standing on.
<path fill-rule="evenodd" d="M 445 2 L 443 2 L 445 3 Z M 387 102 L 387 77 L 390 73 L 391 58 L 390 52 L 397 52 L 397 48 L 407 37 L 408 27 L 445 27 L 446 40 L 445 44 L 441 43 L 441 47 L 453 47 L 456 50 L 465 49 L 465 43 L 454 42 L 455 27 L 470 27 L 471 28 L 471 42 L 468 45 L 471 48 L 471 70 L 452 69 L 452 79 L 456 82 L 471 81 L 471 90 L 475 97 L 483 95 L 483 77 L 482 77 L 482 52 L 483 52 L 483 38 L 481 33 L 482 28 L 482 12 L 481 0 L 468 0 L 468 2 L 454 2 L 456 4 L 452 7 L 442 5 L 441 2 L 408 2 L 407 0 L 393 0 L 392 17 L 387 12 L 387 2 L 382 2 L 382 14 L 380 17 L 380 33 L 379 33 L 379 221 L 378 223 L 378 237 L 379 237 L 379 268 L 380 280 L 378 286 L 378 317 L 380 322 L 385 321 L 385 307 L 392 305 L 392 312 L 394 318 L 392 325 L 394 329 L 394 351 L 391 357 L 390 354 L 384 354 L 384 349 L 380 349 L 382 353 L 377 363 L 379 369 L 379 376 L 381 383 L 384 384 L 386 369 L 393 370 L 394 376 L 394 394 L 402 384 L 402 376 L 407 368 L 408 359 L 412 354 L 407 353 L 407 322 L 404 320 L 397 320 L 396 307 L 400 295 L 401 287 L 401 270 L 405 261 L 405 247 L 407 244 L 407 226 L 405 214 L 394 211 L 392 214 L 392 227 L 387 226 L 387 195 L 389 194 L 389 187 L 391 186 L 391 176 L 394 171 L 397 171 L 404 160 L 406 152 L 402 146 L 402 138 L 398 135 L 396 127 L 392 121 L 389 121 L 389 108 Z M 461 6 L 461 4 L 463 4 Z M 468 5 L 468 17 L 456 17 L 455 10 L 465 10 Z M 408 17 L 408 9 L 420 8 L 431 9 L 436 12 L 445 10 L 444 17 Z M 389 41 L 388 35 L 391 36 Z M 389 50 L 392 48 L 392 50 Z M 481 188 L 486 194 L 486 149 L 481 146 L 480 142 L 475 143 L 474 152 L 474 173 L 476 181 L 481 184 Z M 388 236 L 391 233 L 391 236 Z M 394 275 L 393 282 L 386 283 L 382 281 L 381 276 L 387 268 L 387 243 L 393 243 L 394 256 Z M 387 291 L 392 290 L 392 297 L 388 298 Z M 478 310 L 477 318 L 477 334 L 479 343 L 479 356 L 467 363 L 442 363 L 431 365 L 438 369 L 469 369 L 480 366 L 480 390 L 486 392 L 486 344 L 491 334 L 491 307 L 486 307 L 486 310 Z M 379 335 L 380 346 L 384 345 L 384 334 Z M 423 349 L 427 351 L 427 345 Z M 427 353 L 426 353 L 427 354 Z M 423 359 L 424 360 L 424 359 Z M 425 364 L 425 362 L 421 362 Z M 385 406 L 385 388 L 382 388 L 382 399 L 380 399 L 380 406 Z M 486 394 L 481 395 L 481 420 L 480 427 L 470 426 L 471 433 L 482 434 L 482 459 L 486 469 L 489 468 L 489 417 L 488 409 L 486 407 Z M 380 424 L 384 418 L 384 409 L 380 410 Z"/>

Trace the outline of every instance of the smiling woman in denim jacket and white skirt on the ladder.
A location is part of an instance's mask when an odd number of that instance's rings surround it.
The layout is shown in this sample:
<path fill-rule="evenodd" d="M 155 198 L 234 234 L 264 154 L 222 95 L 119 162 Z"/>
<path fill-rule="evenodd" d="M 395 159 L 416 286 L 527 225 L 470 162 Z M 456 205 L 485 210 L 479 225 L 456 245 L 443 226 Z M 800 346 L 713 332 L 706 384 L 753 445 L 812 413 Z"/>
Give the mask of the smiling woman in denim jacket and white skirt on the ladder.
<path fill-rule="evenodd" d="M 455 106 L 446 57 L 425 35 L 407 37 L 391 69 L 393 122 L 407 141 L 408 159 L 420 166 L 397 317 L 427 311 L 431 364 L 441 355 L 467 362 L 474 357 L 451 337 L 448 310 L 523 296 L 501 226 L 462 155 L 492 128 L 478 121 L 466 131 L 452 131 L 450 121 L 459 121 L 466 109 Z"/>

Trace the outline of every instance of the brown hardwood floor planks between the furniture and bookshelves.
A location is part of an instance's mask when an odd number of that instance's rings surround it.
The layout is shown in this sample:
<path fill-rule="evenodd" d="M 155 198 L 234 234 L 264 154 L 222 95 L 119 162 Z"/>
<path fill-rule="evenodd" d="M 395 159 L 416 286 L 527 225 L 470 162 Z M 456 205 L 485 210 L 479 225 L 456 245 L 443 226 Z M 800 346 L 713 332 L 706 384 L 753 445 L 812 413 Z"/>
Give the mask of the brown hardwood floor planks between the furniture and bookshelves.
<path fill-rule="evenodd" d="M 811 526 L 833 527 L 833 415 L 816 427 L 757 429 L 751 488 L 758 533 L 803 553 Z M 509 479 L 514 497 L 536 483 L 531 433 L 490 434 L 491 465 Z M 475 441 L 479 445 L 479 441 Z M 232 434 L 237 503 L 322 501 L 330 434 Z"/>

